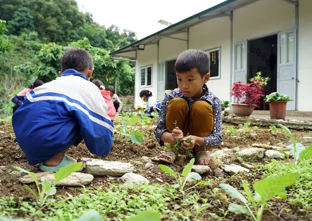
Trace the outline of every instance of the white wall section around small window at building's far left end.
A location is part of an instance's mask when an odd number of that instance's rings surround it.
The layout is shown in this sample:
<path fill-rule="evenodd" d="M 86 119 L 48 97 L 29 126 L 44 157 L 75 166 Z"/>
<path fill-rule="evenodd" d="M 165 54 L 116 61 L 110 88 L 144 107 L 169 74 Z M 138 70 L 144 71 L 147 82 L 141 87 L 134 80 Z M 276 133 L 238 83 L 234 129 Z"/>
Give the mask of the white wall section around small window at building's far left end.
<path fill-rule="evenodd" d="M 140 67 L 152 65 L 152 86 L 140 87 Z M 135 80 L 135 105 L 142 106 L 139 97 L 140 91 L 146 89 L 157 95 L 157 45 L 146 45 L 144 51 L 137 51 L 136 80 Z"/>

